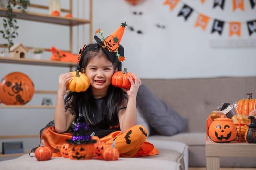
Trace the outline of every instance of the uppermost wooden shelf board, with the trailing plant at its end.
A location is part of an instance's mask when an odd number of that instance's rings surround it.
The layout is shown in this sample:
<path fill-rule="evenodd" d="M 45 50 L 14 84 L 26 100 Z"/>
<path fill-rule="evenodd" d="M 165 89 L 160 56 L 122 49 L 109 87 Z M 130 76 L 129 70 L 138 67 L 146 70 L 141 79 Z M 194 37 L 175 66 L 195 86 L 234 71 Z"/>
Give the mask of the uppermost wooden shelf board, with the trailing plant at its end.
<path fill-rule="evenodd" d="M 6 8 L 0 8 L 0 17 L 4 17 L 6 12 Z M 61 16 L 52 16 L 49 14 L 42 14 L 36 12 L 22 13 L 19 10 L 13 9 L 13 13 L 16 15 L 17 19 L 24 19 L 36 22 L 50 23 L 50 24 L 58 24 L 58 25 L 66 25 L 66 26 L 77 26 L 83 24 L 91 23 L 90 20 L 79 19 L 79 18 L 69 18 L 69 17 L 61 17 Z"/>

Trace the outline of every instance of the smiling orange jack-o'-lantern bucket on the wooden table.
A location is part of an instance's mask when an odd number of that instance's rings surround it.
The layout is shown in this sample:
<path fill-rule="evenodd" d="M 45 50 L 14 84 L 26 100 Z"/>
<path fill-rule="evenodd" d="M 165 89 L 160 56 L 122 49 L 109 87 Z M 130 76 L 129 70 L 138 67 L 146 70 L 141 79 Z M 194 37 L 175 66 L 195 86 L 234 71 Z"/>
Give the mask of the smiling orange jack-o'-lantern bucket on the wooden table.
<path fill-rule="evenodd" d="M 230 142 L 236 138 L 236 127 L 231 119 L 221 116 L 211 123 L 208 135 L 214 142 Z"/>

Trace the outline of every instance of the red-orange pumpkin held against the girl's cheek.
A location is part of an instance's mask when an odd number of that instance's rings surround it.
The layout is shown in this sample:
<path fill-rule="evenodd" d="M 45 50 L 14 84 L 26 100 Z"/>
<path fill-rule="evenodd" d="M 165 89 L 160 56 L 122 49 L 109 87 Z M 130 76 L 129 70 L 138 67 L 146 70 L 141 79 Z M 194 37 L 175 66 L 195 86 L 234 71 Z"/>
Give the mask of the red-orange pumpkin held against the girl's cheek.
<path fill-rule="evenodd" d="M 127 68 L 124 68 L 123 71 L 117 71 L 113 74 L 111 83 L 115 87 L 130 89 L 131 88 L 131 82 L 128 79 L 128 77 L 130 77 L 134 82 L 134 78 L 131 75 L 131 73 L 128 73 Z"/>

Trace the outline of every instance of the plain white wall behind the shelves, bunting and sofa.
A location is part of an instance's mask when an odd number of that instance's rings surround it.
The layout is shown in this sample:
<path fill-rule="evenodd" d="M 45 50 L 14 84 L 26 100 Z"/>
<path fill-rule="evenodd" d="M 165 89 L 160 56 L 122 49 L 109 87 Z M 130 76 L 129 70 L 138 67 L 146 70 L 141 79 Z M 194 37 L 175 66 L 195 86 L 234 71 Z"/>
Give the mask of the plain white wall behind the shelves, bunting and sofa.
<path fill-rule="evenodd" d="M 141 78 L 197 78 L 218 76 L 256 76 L 256 48 L 212 48 L 210 40 L 256 40 L 256 33 L 248 35 L 245 22 L 256 19 L 256 7 L 251 9 L 249 1 L 245 1 L 245 11 L 232 11 L 231 0 L 226 0 L 225 8 L 212 8 L 213 0 L 180 0 L 173 11 L 163 5 L 165 0 L 145 0 L 138 6 L 131 6 L 125 0 L 93 0 L 93 31 L 101 28 L 104 36 L 108 36 L 122 22 L 133 26 L 135 31 L 126 28 L 121 44 L 125 47 L 126 60 L 124 66 L 129 72 L 138 74 Z M 47 0 L 31 0 L 31 3 L 47 5 Z M 74 0 L 74 17 L 82 10 L 75 10 L 77 0 Z M 79 0 L 79 6 L 83 4 Z M 242 36 L 228 36 L 228 24 L 224 26 L 222 36 L 211 34 L 213 20 L 209 21 L 206 31 L 195 28 L 197 12 L 184 21 L 177 14 L 183 2 L 195 11 L 225 21 L 241 21 Z M 84 5 L 86 5 L 85 3 Z M 68 0 L 61 0 L 61 8 L 68 8 Z M 85 9 L 87 9 L 85 7 Z M 30 8 L 31 11 L 35 9 Z M 38 12 L 38 11 L 37 11 Z M 46 10 L 39 12 L 48 13 Z M 142 12 L 134 15 L 133 12 Z M 84 15 L 87 17 L 88 12 Z M 0 17 L 0 20 L 2 17 Z M 2 23 L 2 21 L 0 22 Z M 18 20 L 19 37 L 15 43 L 25 46 L 40 46 L 68 49 L 69 30 L 67 27 L 52 24 Z M 164 25 L 165 29 L 156 27 Z M 85 34 L 82 30 L 85 29 Z M 0 24 L 2 29 L 2 24 Z M 143 34 L 137 34 L 142 30 Z M 74 28 L 74 53 L 85 43 L 88 44 L 88 25 Z M 79 34 L 78 32 L 79 31 Z M 77 41 L 77 37 L 79 40 Z M 83 37 L 85 36 L 85 37 Z M 98 34 L 98 36 L 100 36 Z M 0 43 L 3 39 L 0 38 Z M 51 53 L 45 52 L 43 59 L 49 59 Z M 29 53 L 29 57 L 31 54 Z M 0 63 L 0 79 L 7 73 L 20 71 L 27 74 L 34 82 L 36 90 L 57 90 L 59 75 L 68 72 L 68 68 L 43 66 L 2 64 Z M 39 105 L 42 98 L 50 97 L 55 104 L 55 95 L 34 95 L 28 104 Z M 39 130 L 53 120 L 53 109 L 0 109 L 0 135 L 39 134 Z M 39 144 L 36 139 L 32 143 L 25 142 L 25 148 L 30 149 Z M 1 145 L 0 145 L 1 147 Z M 1 149 L 1 148 L 0 148 Z"/>

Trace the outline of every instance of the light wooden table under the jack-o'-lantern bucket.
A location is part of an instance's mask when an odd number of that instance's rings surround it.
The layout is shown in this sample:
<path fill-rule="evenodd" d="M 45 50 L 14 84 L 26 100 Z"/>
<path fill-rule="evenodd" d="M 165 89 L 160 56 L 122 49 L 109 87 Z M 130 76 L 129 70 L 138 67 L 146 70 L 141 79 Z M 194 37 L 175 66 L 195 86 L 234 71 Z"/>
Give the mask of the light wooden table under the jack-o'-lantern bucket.
<path fill-rule="evenodd" d="M 256 143 L 216 143 L 206 140 L 206 170 L 219 170 L 220 157 L 256 157 Z"/>

